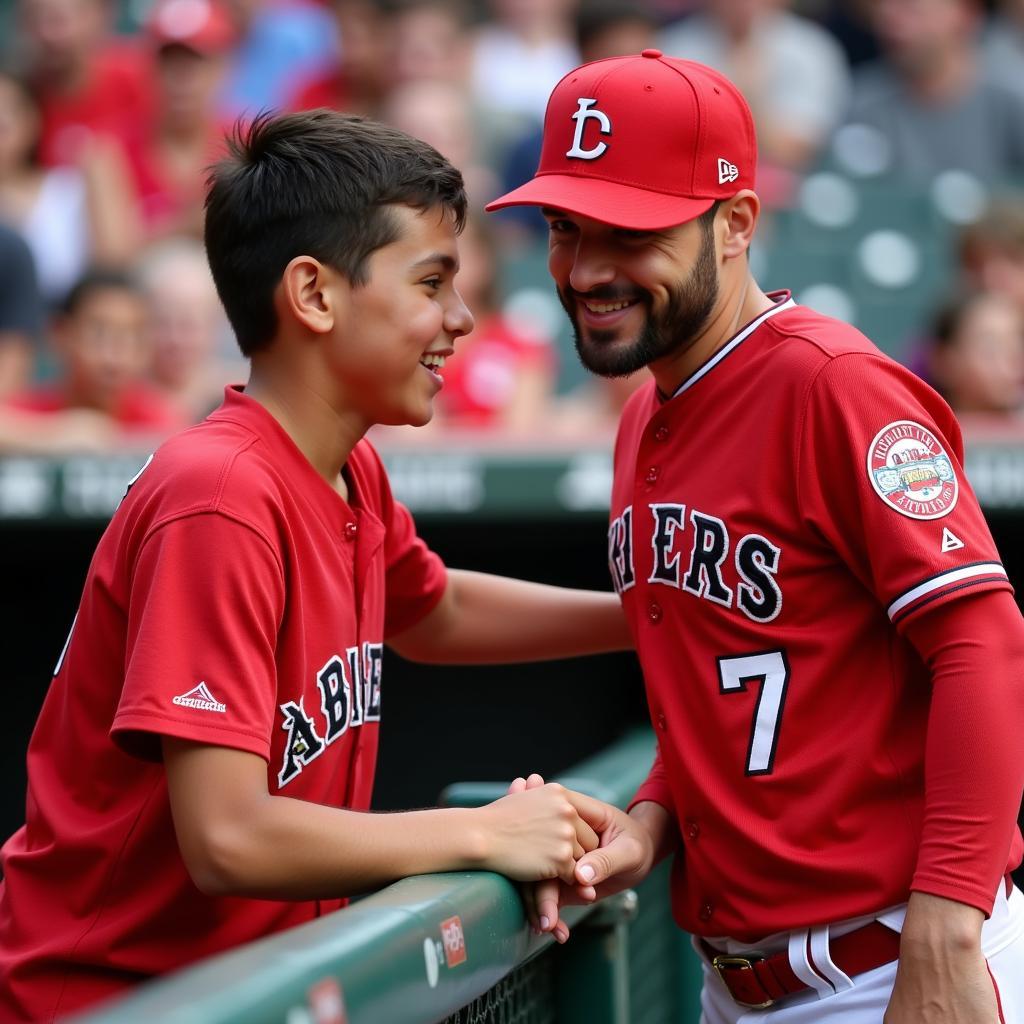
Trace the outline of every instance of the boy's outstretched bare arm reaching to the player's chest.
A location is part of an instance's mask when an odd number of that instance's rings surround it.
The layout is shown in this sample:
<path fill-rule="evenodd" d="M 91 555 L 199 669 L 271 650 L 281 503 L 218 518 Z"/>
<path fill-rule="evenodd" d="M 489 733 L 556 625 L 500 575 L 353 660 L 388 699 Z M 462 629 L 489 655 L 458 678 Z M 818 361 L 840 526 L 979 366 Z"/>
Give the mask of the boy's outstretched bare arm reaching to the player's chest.
<path fill-rule="evenodd" d="M 618 598 L 452 569 L 438 607 L 389 640 L 415 660 L 499 665 L 632 648 Z"/>

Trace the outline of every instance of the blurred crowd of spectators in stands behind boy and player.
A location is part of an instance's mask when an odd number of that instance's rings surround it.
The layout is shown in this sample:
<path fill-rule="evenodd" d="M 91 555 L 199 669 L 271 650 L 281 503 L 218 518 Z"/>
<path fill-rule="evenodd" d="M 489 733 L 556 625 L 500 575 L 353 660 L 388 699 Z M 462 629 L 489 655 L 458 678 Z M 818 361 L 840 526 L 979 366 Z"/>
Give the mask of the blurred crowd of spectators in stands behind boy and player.
<path fill-rule="evenodd" d="M 245 379 L 204 170 L 238 119 L 316 106 L 390 122 L 466 178 L 476 327 L 422 439 L 610 432 L 639 376 L 573 372 L 543 220 L 481 211 L 532 174 L 563 74 L 649 46 L 743 90 L 769 238 L 822 168 L 958 184 L 899 354 L 965 416 L 1024 424 L 1024 0 L 6 0 L 0 28 L 0 451 L 151 443 Z"/>

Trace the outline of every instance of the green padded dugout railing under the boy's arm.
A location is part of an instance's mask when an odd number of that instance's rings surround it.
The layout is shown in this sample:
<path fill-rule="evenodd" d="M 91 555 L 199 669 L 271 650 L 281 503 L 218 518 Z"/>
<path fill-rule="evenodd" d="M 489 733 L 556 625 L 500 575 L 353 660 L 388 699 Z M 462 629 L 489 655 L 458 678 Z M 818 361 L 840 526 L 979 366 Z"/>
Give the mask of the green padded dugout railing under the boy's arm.
<path fill-rule="evenodd" d="M 625 806 L 650 766 L 632 732 L 559 781 Z M 461 783 L 444 802 L 504 786 Z M 636 892 L 569 907 L 569 942 L 531 934 L 486 871 L 403 879 L 337 913 L 140 986 L 77 1024 L 695 1024 L 699 965 L 672 922 L 668 865 Z"/>

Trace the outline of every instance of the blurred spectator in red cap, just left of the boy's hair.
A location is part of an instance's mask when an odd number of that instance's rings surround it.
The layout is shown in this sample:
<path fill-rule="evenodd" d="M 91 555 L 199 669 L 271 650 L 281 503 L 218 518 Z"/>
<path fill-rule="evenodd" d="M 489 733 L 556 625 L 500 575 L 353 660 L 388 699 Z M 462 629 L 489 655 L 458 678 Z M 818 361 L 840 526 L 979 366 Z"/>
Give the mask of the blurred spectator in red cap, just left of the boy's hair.
<path fill-rule="evenodd" d="M 148 34 L 156 51 L 157 109 L 134 163 L 146 230 L 151 238 L 198 238 L 205 169 L 222 145 L 217 95 L 234 29 L 213 0 L 162 0 Z"/>

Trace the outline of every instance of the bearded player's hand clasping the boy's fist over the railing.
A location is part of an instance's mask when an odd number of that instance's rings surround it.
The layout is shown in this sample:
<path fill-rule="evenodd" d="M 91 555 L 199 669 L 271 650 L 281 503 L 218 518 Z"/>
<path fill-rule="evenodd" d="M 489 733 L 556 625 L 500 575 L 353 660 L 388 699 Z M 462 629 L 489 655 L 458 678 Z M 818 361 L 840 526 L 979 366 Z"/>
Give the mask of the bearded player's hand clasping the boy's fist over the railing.
<path fill-rule="evenodd" d="M 539 775 L 531 775 L 512 784 L 525 788 L 543 781 Z M 543 881 L 524 887 L 523 894 L 530 925 L 535 930 L 551 932 L 558 942 L 569 937 L 568 926 L 560 916 L 561 907 L 592 903 L 639 885 L 653 866 L 655 856 L 651 830 L 642 820 L 581 793 L 567 794 L 581 817 L 598 834 L 599 845 L 579 858 L 571 883 L 564 879 Z M 665 814 L 655 805 L 650 806 L 655 807 L 653 813 Z"/>

